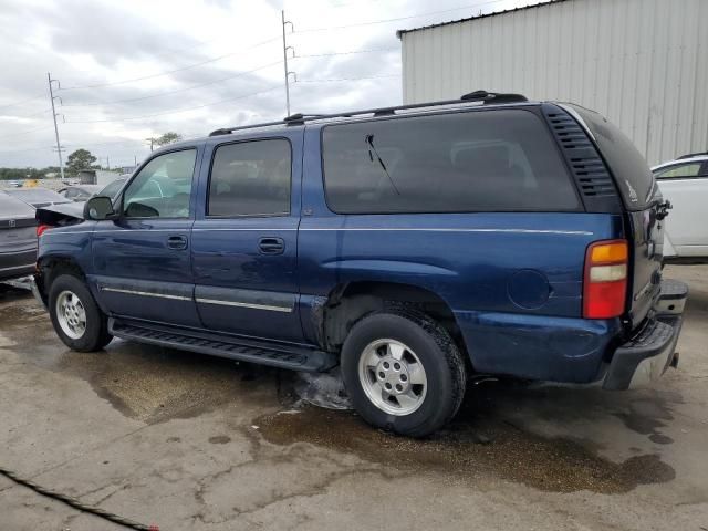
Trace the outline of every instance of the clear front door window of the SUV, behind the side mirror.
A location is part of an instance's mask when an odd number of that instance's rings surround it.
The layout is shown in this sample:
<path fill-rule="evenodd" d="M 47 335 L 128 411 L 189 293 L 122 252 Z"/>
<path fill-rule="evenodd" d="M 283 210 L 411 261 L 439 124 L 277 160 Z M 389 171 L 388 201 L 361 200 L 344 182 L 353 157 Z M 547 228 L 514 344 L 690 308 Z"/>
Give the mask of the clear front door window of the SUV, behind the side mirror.
<path fill-rule="evenodd" d="M 127 218 L 188 218 L 196 149 L 153 158 L 123 194 Z"/>

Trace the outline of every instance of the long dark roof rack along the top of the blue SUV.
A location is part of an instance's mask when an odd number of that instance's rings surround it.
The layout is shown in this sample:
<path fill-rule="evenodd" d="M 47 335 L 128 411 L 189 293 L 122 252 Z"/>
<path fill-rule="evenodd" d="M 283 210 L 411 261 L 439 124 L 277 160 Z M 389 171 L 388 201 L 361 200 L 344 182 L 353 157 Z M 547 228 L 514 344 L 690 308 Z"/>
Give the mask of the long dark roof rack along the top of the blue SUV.
<path fill-rule="evenodd" d="M 285 118 L 279 119 L 277 122 L 266 122 L 262 124 L 251 124 L 251 125 L 238 125 L 236 127 L 225 127 L 221 129 L 216 129 L 209 133 L 209 136 L 229 135 L 235 131 L 253 129 L 257 127 L 268 127 L 272 125 L 303 125 L 305 122 L 311 122 L 313 119 L 348 118 L 352 116 L 360 116 L 363 114 L 372 114 L 374 116 L 393 116 L 396 114 L 396 111 L 407 111 L 409 108 L 435 107 L 438 105 L 455 105 L 455 104 L 471 103 L 471 102 L 481 102 L 482 104 L 502 104 L 502 103 L 528 102 L 528 100 L 525 96 L 521 94 L 504 94 L 504 93 L 497 93 L 497 92 L 475 91 L 475 92 L 470 92 L 469 94 L 464 94 L 459 100 L 442 100 L 438 102 L 412 103 L 408 105 L 367 108 L 363 111 L 350 111 L 346 113 L 335 113 L 335 114 L 300 114 L 298 113 L 298 114 L 292 114 L 290 116 L 287 116 Z"/>

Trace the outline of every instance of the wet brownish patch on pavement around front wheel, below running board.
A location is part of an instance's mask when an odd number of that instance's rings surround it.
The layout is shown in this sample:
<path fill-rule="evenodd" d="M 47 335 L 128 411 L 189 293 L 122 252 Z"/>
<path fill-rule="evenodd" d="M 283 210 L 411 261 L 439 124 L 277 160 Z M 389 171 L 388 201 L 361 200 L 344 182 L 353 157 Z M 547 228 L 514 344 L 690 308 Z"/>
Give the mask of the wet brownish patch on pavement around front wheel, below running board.
<path fill-rule="evenodd" d="M 279 405 L 277 371 L 114 340 L 104 352 L 67 350 L 33 300 L 0 306 L 2 339 L 23 362 L 85 379 L 125 416 L 146 423 L 197 416 L 231 400 Z"/>

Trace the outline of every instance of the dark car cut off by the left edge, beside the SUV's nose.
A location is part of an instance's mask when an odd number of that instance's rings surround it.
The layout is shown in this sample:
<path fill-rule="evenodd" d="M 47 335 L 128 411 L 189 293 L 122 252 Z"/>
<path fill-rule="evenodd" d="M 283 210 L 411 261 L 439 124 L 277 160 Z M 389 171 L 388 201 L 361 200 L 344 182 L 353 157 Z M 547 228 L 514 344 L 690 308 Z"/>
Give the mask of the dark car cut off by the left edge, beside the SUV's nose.
<path fill-rule="evenodd" d="M 0 192 L 0 281 L 34 272 L 35 230 L 34 209 Z"/>

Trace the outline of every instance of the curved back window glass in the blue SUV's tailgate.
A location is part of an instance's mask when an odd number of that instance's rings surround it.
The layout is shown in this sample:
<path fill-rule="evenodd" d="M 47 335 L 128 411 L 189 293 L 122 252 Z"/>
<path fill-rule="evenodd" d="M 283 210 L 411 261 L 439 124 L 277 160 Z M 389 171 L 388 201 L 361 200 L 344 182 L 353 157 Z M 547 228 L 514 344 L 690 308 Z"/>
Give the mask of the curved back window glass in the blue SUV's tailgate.
<path fill-rule="evenodd" d="M 600 153 L 610 170 L 624 204 L 629 210 L 644 210 L 654 200 L 655 180 L 646 159 L 632 140 L 617 126 L 601 114 L 584 107 L 570 105 L 585 121 L 595 137 Z"/>

